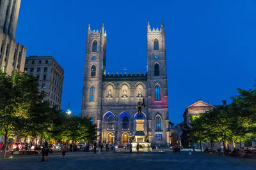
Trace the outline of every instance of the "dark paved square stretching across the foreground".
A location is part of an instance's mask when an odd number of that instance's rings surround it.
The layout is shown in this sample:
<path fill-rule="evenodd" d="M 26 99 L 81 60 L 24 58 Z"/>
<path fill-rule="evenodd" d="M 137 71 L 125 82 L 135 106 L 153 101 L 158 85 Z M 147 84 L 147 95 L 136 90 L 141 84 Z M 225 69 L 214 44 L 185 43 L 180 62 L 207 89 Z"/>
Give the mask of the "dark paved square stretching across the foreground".
<path fill-rule="evenodd" d="M 13 155 L 0 159 L 0 169 L 256 169 L 255 159 L 170 150 L 161 154 L 68 152 L 66 159 L 61 153 L 52 153 L 49 161 L 41 159 L 42 155 Z"/>

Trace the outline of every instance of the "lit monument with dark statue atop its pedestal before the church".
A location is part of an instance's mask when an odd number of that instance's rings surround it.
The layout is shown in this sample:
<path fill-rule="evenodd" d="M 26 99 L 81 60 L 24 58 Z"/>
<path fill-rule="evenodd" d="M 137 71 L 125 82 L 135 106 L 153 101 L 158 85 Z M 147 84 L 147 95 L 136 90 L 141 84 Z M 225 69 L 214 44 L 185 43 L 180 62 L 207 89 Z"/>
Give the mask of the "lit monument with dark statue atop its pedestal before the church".
<path fill-rule="evenodd" d="M 136 121 L 136 132 L 134 135 L 134 139 L 132 141 L 132 152 L 137 152 L 137 145 L 139 145 L 140 152 L 151 152 L 152 148 L 150 146 L 150 142 L 148 138 L 146 138 L 144 133 L 144 118 L 142 117 L 142 106 L 145 107 L 144 99 L 143 103 L 138 103 L 138 115 L 135 119 Z"/>

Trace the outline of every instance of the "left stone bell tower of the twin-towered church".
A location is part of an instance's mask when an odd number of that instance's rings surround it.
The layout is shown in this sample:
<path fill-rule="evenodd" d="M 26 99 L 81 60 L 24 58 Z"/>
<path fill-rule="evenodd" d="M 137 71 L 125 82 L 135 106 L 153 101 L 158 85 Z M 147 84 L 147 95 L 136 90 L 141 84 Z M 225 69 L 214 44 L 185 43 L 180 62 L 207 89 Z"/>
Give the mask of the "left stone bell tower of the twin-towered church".
<path fill-rule="evenodd" d="M 106 32 L 87 28 L 84 61 L 82 115 L 92 118 L 100 132 L 102 106 L 102 76 L 106 72 Z"/>

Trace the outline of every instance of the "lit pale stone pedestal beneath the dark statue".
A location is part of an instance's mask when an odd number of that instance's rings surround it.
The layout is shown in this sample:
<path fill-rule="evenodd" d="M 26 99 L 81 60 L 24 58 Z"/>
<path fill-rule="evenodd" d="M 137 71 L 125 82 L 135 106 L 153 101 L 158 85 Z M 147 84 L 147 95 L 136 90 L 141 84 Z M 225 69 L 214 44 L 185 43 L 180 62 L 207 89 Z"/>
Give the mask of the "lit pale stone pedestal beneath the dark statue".
<path fill-rule="evenodd" d="M 136 121 L 136 133 L 135 133 L 135 141 L 132 142 L 132 152 L 137 152 L 138 143 L 140 145 L 139 152 L 151 152 L 152 148 L 150 146 L 150 143 L 145 140 L 144 118 L 142 116 L 138 116 L 135 121 Z"/>

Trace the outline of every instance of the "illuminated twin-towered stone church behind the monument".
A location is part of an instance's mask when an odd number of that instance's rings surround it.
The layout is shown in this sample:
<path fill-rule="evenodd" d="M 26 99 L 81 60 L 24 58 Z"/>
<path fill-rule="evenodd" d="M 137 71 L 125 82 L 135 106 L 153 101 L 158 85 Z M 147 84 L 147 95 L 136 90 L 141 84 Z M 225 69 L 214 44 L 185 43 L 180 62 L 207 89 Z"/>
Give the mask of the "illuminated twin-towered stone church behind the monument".
<path fill-rule="evenodd" d="M 164 24 L 147 24 L 147 73 L 106 74 L 107 34 L 88 25 L 84 62 L 82 115 L 97 125 L 102 143 L 127 145 L 136 132 L 136 106 L 145 99 L 145 134 L 155 145 L 169 144 Z"/>

